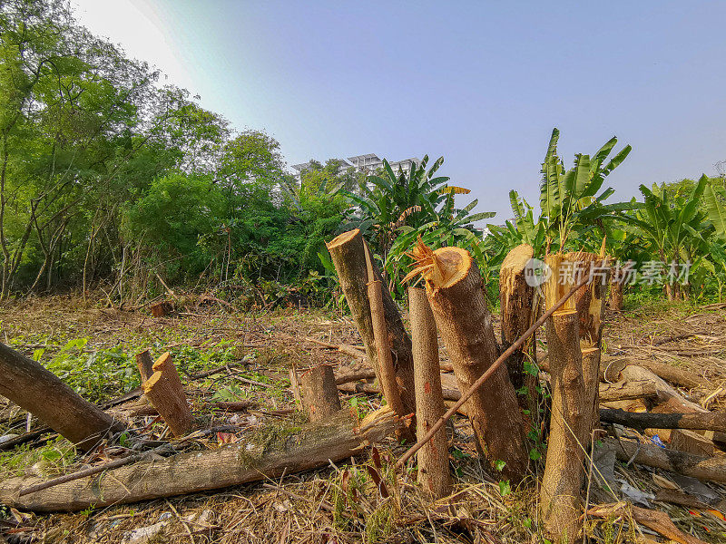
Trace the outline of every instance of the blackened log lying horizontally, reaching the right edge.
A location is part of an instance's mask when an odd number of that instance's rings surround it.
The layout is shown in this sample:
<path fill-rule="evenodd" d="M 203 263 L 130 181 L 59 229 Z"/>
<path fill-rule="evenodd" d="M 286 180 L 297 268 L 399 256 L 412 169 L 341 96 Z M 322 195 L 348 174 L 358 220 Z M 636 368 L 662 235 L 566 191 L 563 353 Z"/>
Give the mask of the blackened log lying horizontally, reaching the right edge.
<path fill-rule="evenodd" d="M 617 423 L 640 431 L 647 428 L 693 429 L 697 431 L 723 431 L 726 429 L 726 412 L 723 411 L 709 413 L 633 413 L 601 408 L 600 420 L 604 423 Z"/>

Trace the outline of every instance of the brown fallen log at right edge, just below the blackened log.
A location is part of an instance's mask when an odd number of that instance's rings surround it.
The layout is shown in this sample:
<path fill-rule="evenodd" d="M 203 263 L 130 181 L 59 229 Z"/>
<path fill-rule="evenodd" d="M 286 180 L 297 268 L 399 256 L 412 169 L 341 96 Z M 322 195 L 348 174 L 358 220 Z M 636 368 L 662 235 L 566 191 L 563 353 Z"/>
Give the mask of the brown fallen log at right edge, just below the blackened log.
<path fill-rule="evenodd" d="M 702 457 L 633 440 L 604 438 L 603 442 L 614 448 L 620 461 L 637 462 L 704 481 L 726 482 L 726 460 L 721 457 Z"/>

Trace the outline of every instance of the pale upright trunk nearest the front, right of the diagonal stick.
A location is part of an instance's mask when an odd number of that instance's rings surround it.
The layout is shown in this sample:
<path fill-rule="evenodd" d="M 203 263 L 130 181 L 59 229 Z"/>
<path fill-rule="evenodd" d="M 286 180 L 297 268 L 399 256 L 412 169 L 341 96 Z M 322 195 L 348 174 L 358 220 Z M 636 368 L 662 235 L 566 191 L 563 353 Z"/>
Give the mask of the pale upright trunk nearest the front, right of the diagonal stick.
<path fill-rule="evenodd" d="M 560 310 L 550 318 L 547 349 L 552 375 L 552 419 L 540 489 L 540 512 L 544 527 L 558 541 L 574 542 L 582 529 L 580 491 L 587 447 L 580 437 L 584 425 L 592 421 L 587 418 L 575 310 Z"/>

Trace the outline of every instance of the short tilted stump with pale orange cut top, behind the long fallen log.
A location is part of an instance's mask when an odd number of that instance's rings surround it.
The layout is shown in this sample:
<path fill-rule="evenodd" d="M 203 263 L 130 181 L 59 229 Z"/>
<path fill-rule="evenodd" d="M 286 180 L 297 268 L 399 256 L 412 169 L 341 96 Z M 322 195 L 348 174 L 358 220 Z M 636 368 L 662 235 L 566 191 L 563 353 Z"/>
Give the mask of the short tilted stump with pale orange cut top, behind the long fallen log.
<path fill-rule="evenodd" d="M 182 380 L 172 362 L 172 355 L 166 352 L 152 368 L 152 376 L 142 386 L 143 393 L 169 425 L 174 436 L 183 436 L 194 428 L 194 417 L 187 403 Z"/>

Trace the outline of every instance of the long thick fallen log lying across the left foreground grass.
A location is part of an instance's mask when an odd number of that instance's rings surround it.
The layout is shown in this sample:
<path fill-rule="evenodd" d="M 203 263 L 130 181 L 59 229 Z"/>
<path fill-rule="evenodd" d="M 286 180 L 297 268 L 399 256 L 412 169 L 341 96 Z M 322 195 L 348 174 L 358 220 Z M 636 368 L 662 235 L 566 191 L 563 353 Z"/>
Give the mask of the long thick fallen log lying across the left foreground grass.
<path fill-rule="evenodd" d="M 343 410 L 327 422 L 311 423 L 291 434 L 277 433 L 263 443 L 237 442 L 215 450 L 140 461 L 24 497 L 19 491 L 41 479 L 6 479 L 0 483 L 0 502 L 21 510 L 77 511 L 279 478 L 348 459 L 364 446 L 391 436 L 401 424 L 388 409 L 370 414 L 362 423 Z"/>

